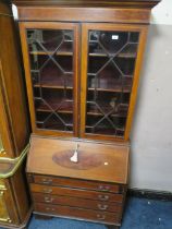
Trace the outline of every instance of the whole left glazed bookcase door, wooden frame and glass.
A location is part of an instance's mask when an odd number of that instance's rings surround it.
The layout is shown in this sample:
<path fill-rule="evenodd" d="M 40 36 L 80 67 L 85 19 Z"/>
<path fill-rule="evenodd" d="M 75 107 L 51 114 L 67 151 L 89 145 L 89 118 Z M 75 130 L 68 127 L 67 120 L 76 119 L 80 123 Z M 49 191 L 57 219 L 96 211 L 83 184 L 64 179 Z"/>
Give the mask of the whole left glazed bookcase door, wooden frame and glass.
<path fill-rule="evenodd" d="M 21 23 L 33 132 L 77 135 L 77 25 Z"/>

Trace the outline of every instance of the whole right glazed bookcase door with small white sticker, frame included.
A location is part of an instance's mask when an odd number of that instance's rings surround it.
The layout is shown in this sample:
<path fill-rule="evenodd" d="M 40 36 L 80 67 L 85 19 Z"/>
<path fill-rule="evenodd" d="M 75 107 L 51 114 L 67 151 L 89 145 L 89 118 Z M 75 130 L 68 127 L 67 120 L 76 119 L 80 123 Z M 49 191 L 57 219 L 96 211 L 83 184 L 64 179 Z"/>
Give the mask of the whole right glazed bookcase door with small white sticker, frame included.
<path fill-rule="evenodd" d="M 84 24 L 82 137 L 127 140 L 146 26 Z"/>

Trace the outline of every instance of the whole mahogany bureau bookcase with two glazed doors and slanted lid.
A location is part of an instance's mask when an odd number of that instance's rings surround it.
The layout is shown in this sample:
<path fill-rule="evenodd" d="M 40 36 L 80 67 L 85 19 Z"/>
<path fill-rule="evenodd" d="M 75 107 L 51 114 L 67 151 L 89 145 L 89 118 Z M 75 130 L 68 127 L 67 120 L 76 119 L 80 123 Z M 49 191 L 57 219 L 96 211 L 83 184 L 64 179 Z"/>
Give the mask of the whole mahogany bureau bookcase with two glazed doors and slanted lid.
<path fill-rule="evenodd" d="M 33 134 L 34 213 L 120 227 L 130 130 L 159 0 L 13 0 Z"/>

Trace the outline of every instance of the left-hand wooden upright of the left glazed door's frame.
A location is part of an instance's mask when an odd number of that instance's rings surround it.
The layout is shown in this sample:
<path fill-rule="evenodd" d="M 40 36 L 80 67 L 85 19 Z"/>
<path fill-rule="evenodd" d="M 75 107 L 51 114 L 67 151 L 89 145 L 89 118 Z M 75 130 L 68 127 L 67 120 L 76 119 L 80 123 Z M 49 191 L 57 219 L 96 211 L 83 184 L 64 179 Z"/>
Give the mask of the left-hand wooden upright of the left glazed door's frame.
<path fill-rule="evenodd" d="M 25 69 L 25 79 L 27 85 L 27 98 L 29 105 L 29 112 L 30 112 L 30 121 L 33 131 L 36 130 L 36 120 L 35 120 L 35 108 L 33 101 L 33 86 L 32 86 L 32 77 L 29 71 L 29 57 L 28 57 L 28 48 L 27 48 L 27 39 L 26 39 L 26 23 L 20 22 L 20 34 L 21 34 L 21 44 L 22 44 L 22 52 L 23 52 L 23 61 L 24 61 L 24 69 Z"/>

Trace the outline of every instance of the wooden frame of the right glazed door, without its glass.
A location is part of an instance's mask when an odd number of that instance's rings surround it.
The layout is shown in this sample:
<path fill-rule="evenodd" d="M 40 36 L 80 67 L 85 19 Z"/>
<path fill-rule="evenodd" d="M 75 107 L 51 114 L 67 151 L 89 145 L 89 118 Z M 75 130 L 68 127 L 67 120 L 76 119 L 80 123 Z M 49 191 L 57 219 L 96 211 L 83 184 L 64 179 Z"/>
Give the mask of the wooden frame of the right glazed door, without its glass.
<path fill-rule="evenodd" d="M 86 125 L 86 94 L 87 94 L 87 68 L 88 68 L 88 32 L 93 31 L 118 31 L 118 32 L 138 32 L 139 41 L 137 49 L 137 57 L 135 62 L 135 70 L 133 75 L 133 86 L 131 91 L 128 111 L 124 136 L 118 137 L 112 135 L 100 135 L 85 133 Z M 82 25 L 82 82 L 81 82 L 81 137 L 94 140 L 108 141 L 128 141 L 130 131 L 134 114 L 134 107 L 136 104 L 137 88 L 139 83 L 139 73 L 144 57 L 145 44 L 147 38 L 148 25 L 133 25 L 133 24 L 113 24 L 113 23 L 84 23 Z"/>

